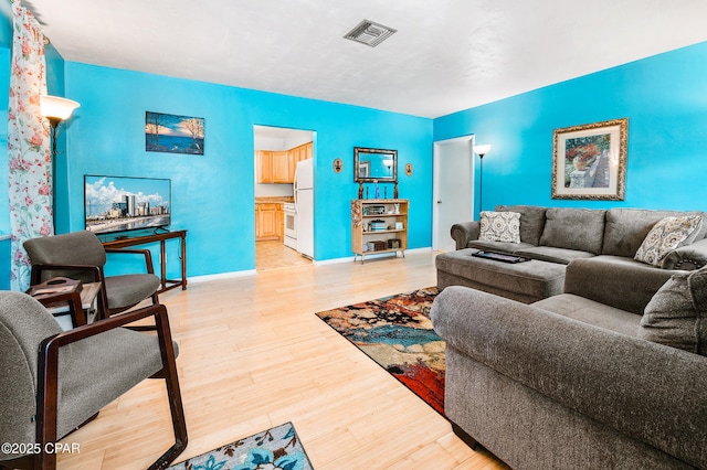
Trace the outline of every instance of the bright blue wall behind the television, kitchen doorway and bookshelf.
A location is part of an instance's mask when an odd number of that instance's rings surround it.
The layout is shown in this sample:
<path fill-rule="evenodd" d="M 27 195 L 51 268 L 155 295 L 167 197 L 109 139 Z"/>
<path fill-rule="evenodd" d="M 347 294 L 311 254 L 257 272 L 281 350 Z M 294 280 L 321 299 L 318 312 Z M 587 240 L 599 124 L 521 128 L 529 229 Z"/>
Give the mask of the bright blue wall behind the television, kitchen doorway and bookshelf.
<path fill-rule="evenodd" d="M 189 276 L 254 269 L 253 125 L 266 125 L 316 135 L 317 260 L 352 256 L 357 146 L 397 149 L 400 168 L 414 165 L 399 186 L 411 205 L 409 248 L 431 245 L 431 119 L 71 62 L 64 83 L 65 96 L 81 103 L 66 132 L 66 232 L 84 228 L 84 174 L 169 178 L 172 227 L 189 231 Z M 148 110 L 204 118 L 204 156 L 146 152 Z M 336 158 L 345 162 L 339 174 Z"/>

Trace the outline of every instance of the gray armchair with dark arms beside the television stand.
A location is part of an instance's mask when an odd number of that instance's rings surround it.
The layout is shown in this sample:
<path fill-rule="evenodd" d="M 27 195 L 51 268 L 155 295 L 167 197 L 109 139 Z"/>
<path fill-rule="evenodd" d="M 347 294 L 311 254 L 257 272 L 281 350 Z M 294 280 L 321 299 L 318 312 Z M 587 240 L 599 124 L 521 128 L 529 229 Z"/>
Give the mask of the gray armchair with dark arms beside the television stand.
<path fill-rule="evenodd" d="M 160 280 L 154 274 L 152 257 L 147 249 L 106 249 L 98 237 L 87 231 L 28 239 L 24 249 L 32 264 L 32 285 L 56 276 L 101 282 L 99 318 L 128 310 L 149 298 L 152 305 L 159 303 Z M 104 276 L 106 253 L 144 256 L 147 273 Z"/>

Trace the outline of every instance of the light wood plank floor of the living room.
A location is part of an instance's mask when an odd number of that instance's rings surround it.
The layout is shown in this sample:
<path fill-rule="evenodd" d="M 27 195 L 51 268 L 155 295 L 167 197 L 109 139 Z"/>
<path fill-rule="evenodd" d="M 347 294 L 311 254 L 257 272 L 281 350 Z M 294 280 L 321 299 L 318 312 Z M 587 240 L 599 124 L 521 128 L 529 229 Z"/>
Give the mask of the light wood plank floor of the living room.
<path fill-rule="evenodd" d="M 434 254 L 192 282 L 169 309 L 189 446 L 179 460 L 292 421 L 317 470 L 505 469 L 334 332 L 316 311 L 435 285 Z M 143 469 L 171 444 L 163 382 L 70 435 L 60 469 Z"/>

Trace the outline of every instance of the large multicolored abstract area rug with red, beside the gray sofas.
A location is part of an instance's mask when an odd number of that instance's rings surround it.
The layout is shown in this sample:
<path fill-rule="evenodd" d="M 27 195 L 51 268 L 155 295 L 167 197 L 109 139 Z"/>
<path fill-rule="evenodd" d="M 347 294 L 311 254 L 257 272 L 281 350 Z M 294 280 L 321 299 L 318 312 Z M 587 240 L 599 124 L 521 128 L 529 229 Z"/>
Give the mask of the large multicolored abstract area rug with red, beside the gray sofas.
<path fill-rule="evenodd" d="M 432 329 L 436 287 L 386 297 L 317 317 L 444 416 L 444 341 Z"/>

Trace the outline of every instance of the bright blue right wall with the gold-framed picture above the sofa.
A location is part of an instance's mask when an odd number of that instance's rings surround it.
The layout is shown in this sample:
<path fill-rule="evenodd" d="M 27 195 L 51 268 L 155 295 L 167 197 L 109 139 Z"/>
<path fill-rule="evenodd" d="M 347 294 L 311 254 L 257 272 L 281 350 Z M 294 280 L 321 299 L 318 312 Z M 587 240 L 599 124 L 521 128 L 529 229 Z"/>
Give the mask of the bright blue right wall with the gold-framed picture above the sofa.
<path fill-rule="evenodd" d="M 553 129 L 623 117 L 629 118 L 625 201 L 552 200 Z M 434 121 L 434 140 L 468 133 L 493 146 L 484 158 L 485 210 L 496 204 L 705 210 L 707 43 Z"/>

